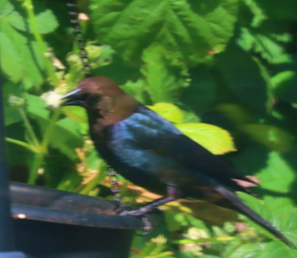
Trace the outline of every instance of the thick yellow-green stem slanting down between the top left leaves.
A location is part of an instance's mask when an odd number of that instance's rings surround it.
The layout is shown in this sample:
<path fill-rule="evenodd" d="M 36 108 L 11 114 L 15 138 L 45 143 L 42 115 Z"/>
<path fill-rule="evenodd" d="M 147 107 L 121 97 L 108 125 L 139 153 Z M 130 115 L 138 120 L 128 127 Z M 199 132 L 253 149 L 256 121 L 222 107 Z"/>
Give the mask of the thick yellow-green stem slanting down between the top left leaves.
<path fill-rule="evenodd" d="M 43 43 L 42 36 L 38 30 L 37 22 L 34 15 L 34 7 L 31 0 L 23 0 L 23 6 L 26 8 L 26 11 L 29 16 L 31 28 L 34 34 L 34 37 L 37 41 L 37 45 L 39 47 L 40 52 L 42 53 L 42 57 L 45 63 L 45 68 L 47 70 L 48 76 L 50 80 L 53 82 L 54 86 L 57 87 L 59 85 L 59 80 L 55 74 L 55 67 L 51 64 L 50 60 L 45 56 L 46 48 Z"/>

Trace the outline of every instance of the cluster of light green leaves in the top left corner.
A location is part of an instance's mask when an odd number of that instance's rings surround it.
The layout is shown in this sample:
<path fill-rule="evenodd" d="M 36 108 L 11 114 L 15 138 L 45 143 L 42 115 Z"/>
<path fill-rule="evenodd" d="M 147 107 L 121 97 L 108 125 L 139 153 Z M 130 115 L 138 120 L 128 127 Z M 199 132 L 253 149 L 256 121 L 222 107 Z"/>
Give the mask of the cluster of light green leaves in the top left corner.
<path fill-rule="evenodd" d="M 44 82 L 45 64 L 37 42 L 32 40 L 32 28 L 28 18 L 8 1 L 1 1 L 0 8 L 0 55 L 1 69 L 11 81 L 22 81 L 26 89 L 39 87 Z M 44 10 L 36 16 L 41 34 L 53 32 L 58 22 L 51 10 Z"/>

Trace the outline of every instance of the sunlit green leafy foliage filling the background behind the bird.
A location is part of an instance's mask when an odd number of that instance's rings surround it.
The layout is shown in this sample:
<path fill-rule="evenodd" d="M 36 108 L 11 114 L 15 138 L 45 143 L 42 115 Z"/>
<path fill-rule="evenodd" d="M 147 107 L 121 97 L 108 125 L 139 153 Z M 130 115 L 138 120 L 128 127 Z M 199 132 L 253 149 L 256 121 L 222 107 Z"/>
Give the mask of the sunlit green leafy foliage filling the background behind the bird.
<path fill-rule="evenodd" d="M 215 154 L 230 152 L 223 158 L 262 185 L 254 191 L 263 201 L 242 199 L 297 245 L 297 2 L 90 0 L 78 8 L 90 18 L 81 26 L 92 74 L 110 77 Z M 60 1 L 0 0 L 11 179 L 111 199 L 84 111 L 57 108 L 83 78 L 67 12 Z M 123 201 L 153 199 L 119 180 Z M 135 236 L 131 257 L 297 256 L 214 205 L 162 209 L 167 226 Z"/>

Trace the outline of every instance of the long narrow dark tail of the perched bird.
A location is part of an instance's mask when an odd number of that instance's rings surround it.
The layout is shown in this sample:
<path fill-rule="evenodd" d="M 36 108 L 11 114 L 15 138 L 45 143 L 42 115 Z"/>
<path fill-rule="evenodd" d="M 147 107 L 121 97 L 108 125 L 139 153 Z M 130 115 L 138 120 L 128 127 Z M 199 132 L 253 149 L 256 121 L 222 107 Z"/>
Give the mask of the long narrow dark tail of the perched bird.
<path fill-rule="evenodd" d="M 267 229 L 271 234 L 281 239 L 287 246 L 293 249 L 297 249 L 296 246 L 294 246 L 294 244 L 287 239 L 287 237 L 285 237 L 281 232 L 279 232 L 268 221 L 263 219 L 259 214 L 255 213 L 251 208 L 249 208 L 244 202 L 241 201 L 241 199 L 238 198 L 236 194 L 229 191 L 227 188 L 223 186 L 217 187 L 216 191 L 219 192 L 228 200 L 228 202 L 231 203 L 234 210 L 246 215 L 252 221 L 255 221 L 257 224 Z"/>

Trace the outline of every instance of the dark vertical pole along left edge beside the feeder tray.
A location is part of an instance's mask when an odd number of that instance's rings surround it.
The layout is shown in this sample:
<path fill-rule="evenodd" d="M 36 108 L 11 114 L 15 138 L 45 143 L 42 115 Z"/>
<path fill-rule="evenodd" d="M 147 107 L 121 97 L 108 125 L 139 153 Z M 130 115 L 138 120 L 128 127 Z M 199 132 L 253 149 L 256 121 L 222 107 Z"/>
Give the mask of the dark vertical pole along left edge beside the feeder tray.
<path fill-rule="evenodd" d="M 13 233 L 10 217 L 10 196 L 8 188 L 8 173 L 4 155 L 4 115 L 2 98 L 2 78 L 0 71 L 0 252 L 12 251 Z"/>

